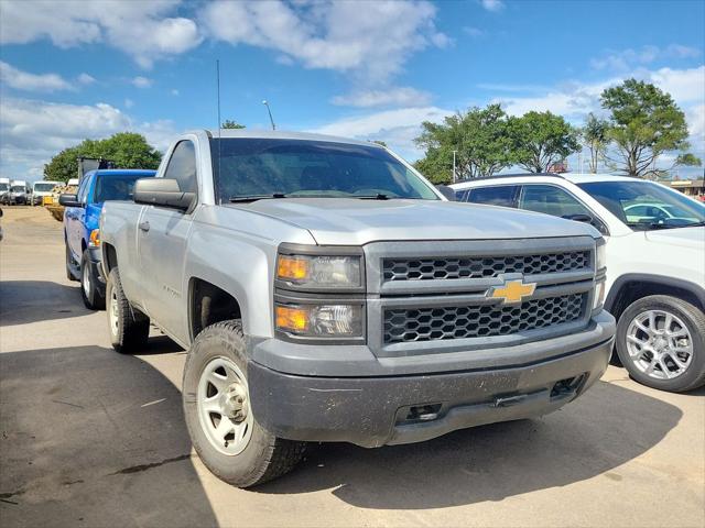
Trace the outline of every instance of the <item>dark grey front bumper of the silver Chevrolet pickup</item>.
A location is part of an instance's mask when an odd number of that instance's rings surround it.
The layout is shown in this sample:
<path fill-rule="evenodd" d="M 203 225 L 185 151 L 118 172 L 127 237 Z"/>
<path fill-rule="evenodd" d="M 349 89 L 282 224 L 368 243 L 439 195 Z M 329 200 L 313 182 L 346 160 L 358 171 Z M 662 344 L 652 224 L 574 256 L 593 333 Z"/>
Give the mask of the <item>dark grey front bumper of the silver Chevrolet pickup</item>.
<path fill-rule="evenodd" d="M 273 435 L 372 448 L 429 440 L 485 424 L 538 417 L 575 399 L 603 375 L 614 319 L 601 342 L 549 359 L 429 374 L 341 377 L 285 374 L 248 366 L 252 410 Z M 420 418 L 423 415 L 423 419 Z"/>

